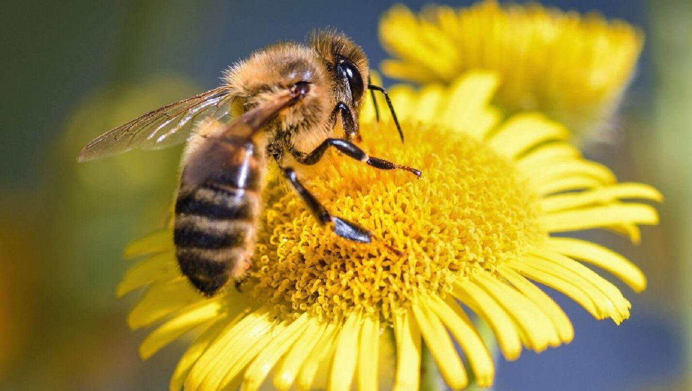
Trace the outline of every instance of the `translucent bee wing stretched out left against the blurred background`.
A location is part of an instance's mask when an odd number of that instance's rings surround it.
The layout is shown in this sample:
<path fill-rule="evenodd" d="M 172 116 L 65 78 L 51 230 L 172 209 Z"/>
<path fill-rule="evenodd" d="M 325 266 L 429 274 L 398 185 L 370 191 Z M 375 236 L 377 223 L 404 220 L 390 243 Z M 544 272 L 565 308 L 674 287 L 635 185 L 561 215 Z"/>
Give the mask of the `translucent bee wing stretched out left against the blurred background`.
<path fill-rule="evenodd" d="M 210 116 L 220 120 L 230 115 L 232 101 L 230 90 L 218 87 L 168 104 L 98 136 L 82 149 L 77 160 L 90 161 L 135 147 L 162 149 L 183 143 L 198 120 Z"/>

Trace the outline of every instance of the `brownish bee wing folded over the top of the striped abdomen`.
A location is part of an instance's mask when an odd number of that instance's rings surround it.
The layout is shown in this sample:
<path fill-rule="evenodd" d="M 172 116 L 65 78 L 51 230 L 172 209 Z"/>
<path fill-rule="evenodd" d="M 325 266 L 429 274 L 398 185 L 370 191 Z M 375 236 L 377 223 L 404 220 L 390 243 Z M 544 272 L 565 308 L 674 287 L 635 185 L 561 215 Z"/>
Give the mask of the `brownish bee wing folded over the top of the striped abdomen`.
<path fill-rule="evenodd" d="M 255 144 L 252 138 L 257 131 L 300 98 L 302 96 L 286 91 L 211 131 L 199 147 L 190 152 L 183 167 L 181 183 L 194 187 L 228 167 L 246 163 L 253 154 Z"/>

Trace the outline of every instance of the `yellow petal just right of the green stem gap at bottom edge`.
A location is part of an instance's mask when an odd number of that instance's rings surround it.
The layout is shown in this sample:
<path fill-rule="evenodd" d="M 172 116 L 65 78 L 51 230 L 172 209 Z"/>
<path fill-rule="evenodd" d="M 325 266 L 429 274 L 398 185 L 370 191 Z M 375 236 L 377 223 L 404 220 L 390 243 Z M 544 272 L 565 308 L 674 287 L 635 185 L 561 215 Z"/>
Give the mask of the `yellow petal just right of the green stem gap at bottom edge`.
<path fill-rule="evenodd" d="M 432 358 L 439 369 L 445 383 L 452 390 L 461 390 L 468 383 L 468 376 L 462 364 L 461 358 L 454 349 L 454 344 L 447 334 L 447 330 L 435 313 L 427 309 L 428 300 L 421 300 L 419 305 L 413 306 L 413 314 L 421 329 L 426 346 L 430 349 Z"/>

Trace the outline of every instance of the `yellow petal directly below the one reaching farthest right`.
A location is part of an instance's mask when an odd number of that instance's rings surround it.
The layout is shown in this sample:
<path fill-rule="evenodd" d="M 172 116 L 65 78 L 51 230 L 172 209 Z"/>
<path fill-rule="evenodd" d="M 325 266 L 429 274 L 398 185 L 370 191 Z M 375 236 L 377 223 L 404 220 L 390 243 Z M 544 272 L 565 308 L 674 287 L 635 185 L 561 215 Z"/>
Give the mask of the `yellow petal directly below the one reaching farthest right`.
<path fill-rule="evenodd" d="M 565 232 L 621 223 L 657 224 L 658 214 L 654 208 L 643 203 L 624 203 L 565 210 L 545 215 L 541 220 L 550 232 Z"/>

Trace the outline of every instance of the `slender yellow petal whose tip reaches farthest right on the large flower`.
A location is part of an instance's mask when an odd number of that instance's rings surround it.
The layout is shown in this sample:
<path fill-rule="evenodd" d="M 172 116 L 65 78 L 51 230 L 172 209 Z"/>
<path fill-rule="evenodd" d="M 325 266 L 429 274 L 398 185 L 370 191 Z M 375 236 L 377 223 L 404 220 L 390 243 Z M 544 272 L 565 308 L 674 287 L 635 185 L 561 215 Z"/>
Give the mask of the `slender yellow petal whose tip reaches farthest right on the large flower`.
<path fill-rule="evenodd" d="M 648 199 L 662 201 L 662 195 L 655 188 L 641 183 L 615 183 L 586 192 L 557 194 L 540 201 L 545 212 L 556 212 L 596 203 L 608 203 L 616 199 Z"/>

